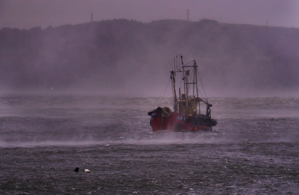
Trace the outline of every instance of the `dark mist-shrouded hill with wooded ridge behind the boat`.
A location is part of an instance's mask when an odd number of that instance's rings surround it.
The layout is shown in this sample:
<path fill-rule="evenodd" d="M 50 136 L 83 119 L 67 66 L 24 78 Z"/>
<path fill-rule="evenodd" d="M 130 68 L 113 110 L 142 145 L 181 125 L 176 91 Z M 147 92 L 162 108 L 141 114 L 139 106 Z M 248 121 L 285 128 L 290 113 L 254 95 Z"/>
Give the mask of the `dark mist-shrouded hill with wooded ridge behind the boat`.
<path fill-rule="evenodd" d="M 298 94 L 298 50 L 297 28 L 206 19 L 2 28 L 0 88 L 161 96 L 180 53 L 196 60 L 208 95 Z"/>

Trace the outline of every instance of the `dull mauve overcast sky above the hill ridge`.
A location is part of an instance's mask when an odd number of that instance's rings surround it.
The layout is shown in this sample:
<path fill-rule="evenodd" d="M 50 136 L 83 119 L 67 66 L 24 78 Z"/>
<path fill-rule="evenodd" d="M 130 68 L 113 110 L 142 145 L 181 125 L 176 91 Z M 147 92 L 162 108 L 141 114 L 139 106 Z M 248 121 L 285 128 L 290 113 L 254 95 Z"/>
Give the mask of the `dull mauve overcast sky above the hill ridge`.
<path fill-rule="evenodd" d="M 0 28 L 59 26 L 106 19 L 202 18 L 223 23 L 299 27 L 299 0 L 0 0 Z"/>

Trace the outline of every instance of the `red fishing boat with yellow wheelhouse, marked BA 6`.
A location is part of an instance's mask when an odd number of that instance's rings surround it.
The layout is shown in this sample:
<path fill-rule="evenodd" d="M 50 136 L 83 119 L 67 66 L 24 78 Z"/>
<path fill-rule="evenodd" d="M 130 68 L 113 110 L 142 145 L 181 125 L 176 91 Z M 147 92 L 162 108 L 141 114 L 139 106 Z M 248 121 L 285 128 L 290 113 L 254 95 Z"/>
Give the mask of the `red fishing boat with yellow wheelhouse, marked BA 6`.
<path fill-rule="evenodd" d="M 180 76 L 181 79 L 177 80 Z M 217 125 L 216 119 L 211 118 L 212 104 L 208 102 L 207 96 L 199 97 L 199 93 L 201 95 L 202 93 L 198 89 L 198 79 L 205 94 L 202 79 L 197 70 L 196 61 L 193 60 L 184 65 L 183 56 L 181 54 L 176 55 L 176 59 L 174 58 L 174 70 L 170 71 L 173 91 L 173 110 L 169 107 L 159 106 L 148 112 L 148 115 L 151 116 L 149 123 L 153 132 L 207 131 L 212 130 L 212 127 Z M 176 81 L 181 83 L 178 87 L 179 94 L 177 94 Z M 201 104 L 206 107 L 205 113 L 201 113 Z"/>

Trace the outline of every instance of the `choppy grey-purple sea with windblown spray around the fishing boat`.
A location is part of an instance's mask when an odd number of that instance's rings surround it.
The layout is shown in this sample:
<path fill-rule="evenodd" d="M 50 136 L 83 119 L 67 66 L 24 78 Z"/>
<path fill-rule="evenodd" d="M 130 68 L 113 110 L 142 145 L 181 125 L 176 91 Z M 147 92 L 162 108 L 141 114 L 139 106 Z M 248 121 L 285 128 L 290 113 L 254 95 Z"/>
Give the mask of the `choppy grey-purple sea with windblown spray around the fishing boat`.
<path fill-rule="evenodd" d="M 0 96 L 0 194 L 299 194 L 299 98 L 209 98 L 212 131 L 152 133 L 160 100 Z"/>

